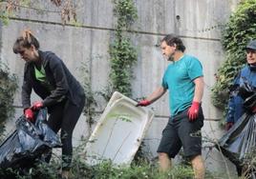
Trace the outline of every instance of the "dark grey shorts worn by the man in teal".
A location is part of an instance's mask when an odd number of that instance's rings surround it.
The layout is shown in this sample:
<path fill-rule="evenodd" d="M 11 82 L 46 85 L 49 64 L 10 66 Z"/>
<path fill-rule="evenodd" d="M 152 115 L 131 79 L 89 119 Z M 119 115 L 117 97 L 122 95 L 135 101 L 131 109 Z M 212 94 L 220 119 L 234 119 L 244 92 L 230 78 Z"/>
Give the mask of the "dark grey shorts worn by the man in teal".
<path fill-rule="evenodd" d="M 167 153 L 174 158 L 183 147 L 185 157 L 193 157 L 202 153 L 203 110 L 200 108 L 199 117 L 190 122 L 187 110 L 170 117 L 165 129 L 162 130 L 162 137 L 158 152 Z"/>

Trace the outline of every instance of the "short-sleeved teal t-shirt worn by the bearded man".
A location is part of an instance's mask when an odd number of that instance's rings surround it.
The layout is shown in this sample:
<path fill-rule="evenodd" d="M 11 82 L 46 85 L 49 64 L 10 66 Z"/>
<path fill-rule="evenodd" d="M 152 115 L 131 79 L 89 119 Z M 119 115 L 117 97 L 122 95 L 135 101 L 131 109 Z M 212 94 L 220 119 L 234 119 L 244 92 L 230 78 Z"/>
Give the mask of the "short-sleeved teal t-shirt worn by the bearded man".
<path fill-rule="evenodd" d="M 191 106 L 195 93 L 194 79 L 203 76 L 200 61 L 189 55 L 170 64 L 164 72 L 161 86 L 169 89 L 171 115 L 174 116 Z"/>

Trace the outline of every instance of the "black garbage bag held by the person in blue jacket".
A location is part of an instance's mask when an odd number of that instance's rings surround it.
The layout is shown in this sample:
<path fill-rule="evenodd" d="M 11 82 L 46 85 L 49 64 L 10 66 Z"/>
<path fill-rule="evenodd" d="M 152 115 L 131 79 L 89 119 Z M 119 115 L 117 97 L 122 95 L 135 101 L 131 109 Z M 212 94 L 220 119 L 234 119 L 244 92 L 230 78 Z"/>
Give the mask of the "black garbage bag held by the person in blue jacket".
<path fill-rule="evenodd" d="M 241 108 L 245 114 L 224 134 L 215 147 L 235 164 L 239 176 L 243 170 L 246 176 L 256 179 L 254 164 L 252 166 L 248 164 L 251 163 L 252 154 L 256 149 L 256 114 L 253 113 L 256 108 L 256 88 L 242 77 L 240 84 L 232 87 L 230 95 L 230 97 L 240 96 L 244 100 Z M 248 169 L 248 165 L 253 168 Z"/>

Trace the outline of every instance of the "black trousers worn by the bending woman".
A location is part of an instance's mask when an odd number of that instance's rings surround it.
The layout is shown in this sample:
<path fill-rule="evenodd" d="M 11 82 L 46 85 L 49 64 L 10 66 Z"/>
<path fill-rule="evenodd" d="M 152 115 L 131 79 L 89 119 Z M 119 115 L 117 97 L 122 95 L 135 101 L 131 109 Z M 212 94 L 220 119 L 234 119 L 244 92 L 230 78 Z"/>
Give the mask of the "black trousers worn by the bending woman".
<path fill-rule="evenodd" d="M 81 96 L 79 106 L 75 106 L 70 100 L 60 102 L 50 109 L 48 125 L 54 132 L 60 131 L 62 143 L 62 169 L 70 169 L 72 163 L 73 145 L 72 135 L 79 116 L 85 105 L 85 96 Z M 51 153 L 47 159 L 50 162 Z"/>

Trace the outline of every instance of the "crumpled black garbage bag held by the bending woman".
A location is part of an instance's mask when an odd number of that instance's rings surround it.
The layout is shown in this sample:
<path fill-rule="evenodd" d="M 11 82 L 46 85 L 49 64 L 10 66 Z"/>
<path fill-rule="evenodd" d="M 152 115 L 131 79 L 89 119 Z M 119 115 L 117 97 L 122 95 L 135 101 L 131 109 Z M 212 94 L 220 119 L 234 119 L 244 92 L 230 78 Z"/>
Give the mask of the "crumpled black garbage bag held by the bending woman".
<path fill-rule="evenodd" d="M 34 124 L 24 115 L 16 121 L 16 129 L 0 146 L 1 169 L 26 169 L 50 149 L 61 147 L 60 139 L 46 124 L 47 109 L 36 112 Z"/>

